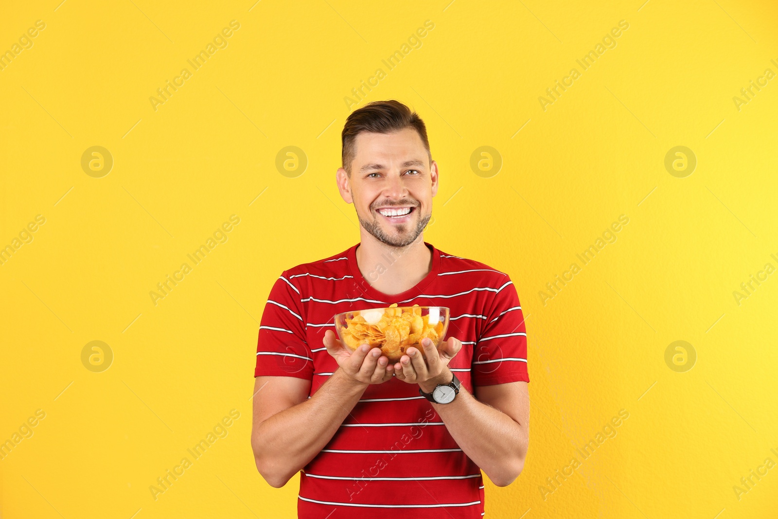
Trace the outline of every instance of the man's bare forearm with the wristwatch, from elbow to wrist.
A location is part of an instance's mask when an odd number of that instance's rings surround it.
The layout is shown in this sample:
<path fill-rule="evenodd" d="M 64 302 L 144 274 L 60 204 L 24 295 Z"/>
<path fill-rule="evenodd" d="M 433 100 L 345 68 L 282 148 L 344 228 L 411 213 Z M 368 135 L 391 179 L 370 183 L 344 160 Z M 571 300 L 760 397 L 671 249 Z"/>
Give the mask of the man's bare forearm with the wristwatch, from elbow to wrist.
<path fill-rule="evenodd" d="M 419 384 L 429 393 L 437 384 L 450 382 L 451 372 Z M 509 485 L 524 468 L 527 456 L 528 424 L 518 424 L 499 409 L 478 402 L 461 385 L 459 394 L 448 404 L 432 403 L 451 437 L 475 465 L 498 486 Z"/>

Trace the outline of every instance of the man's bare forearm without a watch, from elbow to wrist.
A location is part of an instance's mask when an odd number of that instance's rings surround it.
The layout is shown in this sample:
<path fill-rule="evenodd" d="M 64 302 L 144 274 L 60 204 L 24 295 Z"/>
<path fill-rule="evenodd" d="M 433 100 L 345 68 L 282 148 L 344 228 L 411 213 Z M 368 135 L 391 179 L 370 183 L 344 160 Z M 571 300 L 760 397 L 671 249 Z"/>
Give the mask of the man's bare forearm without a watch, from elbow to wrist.
<path fill-rule="evenodd" d="M 261 423 L 251 442 L 262 476 L 284 486 L 335 436 L 367 385 L 338 368 L 311 398 Z"/>

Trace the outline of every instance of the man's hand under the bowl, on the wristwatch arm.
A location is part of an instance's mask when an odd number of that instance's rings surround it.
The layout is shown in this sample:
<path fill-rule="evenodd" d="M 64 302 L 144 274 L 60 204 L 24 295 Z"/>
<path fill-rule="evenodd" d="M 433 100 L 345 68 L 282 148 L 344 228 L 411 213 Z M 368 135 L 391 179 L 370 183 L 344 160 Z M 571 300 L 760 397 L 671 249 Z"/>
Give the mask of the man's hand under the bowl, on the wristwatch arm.
<path fill-rule="evenodd" d="M 451 381 L 448 363 L 462 348 L 462 342 L 450 337 L 436 348 L 429 338 L 425 338 L 422 340 L 422 348 L 426 362 L 422 352 L 412 346 L 406 351 L 408 355 L 403 355 L 400 362 L 394 364 L 394 376 L 408 384 L 419 384 L 422 391 L 429 393 L 437 384 L 448 384 Z"/>

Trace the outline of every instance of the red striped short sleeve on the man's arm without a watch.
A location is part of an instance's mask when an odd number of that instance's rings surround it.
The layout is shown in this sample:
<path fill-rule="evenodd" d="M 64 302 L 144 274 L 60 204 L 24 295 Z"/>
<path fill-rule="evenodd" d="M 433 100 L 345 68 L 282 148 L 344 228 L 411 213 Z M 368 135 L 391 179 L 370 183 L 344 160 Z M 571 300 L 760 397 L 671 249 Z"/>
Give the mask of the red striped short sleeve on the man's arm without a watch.
<path fill-rule="evenodd" d="M 289 272 L 275 281 L 259 326 L 254 377 L 265 375 L 312 380 L 314 360 L 305 340 L 306 323 L 300 289 Z"/>

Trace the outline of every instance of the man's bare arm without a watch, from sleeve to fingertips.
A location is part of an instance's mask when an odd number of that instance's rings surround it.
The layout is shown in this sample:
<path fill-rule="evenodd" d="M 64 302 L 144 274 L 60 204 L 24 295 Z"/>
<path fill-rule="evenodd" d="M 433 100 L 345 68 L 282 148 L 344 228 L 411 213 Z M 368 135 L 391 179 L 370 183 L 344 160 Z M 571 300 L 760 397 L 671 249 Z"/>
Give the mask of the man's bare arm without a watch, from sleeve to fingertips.
<path fill-rule="evenodd" d="M 324 345 L 338 369 L 308 398 L 310 380 L 255 377 L 251 449 L 259 473 L 281 488 L 335 436 L 365 388 L 389 380 L 393 366 L 380 348 L 346 349 L 328 330 Z"/>

